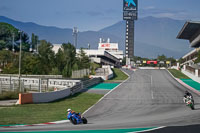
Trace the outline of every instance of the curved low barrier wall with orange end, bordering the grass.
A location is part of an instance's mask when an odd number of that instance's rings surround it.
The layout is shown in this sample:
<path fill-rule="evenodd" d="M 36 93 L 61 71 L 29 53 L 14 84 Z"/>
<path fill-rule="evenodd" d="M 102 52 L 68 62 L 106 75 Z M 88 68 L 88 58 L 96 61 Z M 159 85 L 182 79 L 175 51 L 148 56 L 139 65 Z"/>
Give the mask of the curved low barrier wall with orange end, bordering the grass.
<path fill-rule="evenodd" d="M 94 78 L 84 82 L 77 83 L 71 88 L 67 88 L 60 91 L 47 92 L 47 93 L 29 93 L 29 94 L 19 94 L 19 104 L 26 103 L 47 103 L 56 101 L 75 93 L 81 91 L 81 89 L 87 88 L 89 86 L 95 85 L 102 82 L 101 78 Z"/>

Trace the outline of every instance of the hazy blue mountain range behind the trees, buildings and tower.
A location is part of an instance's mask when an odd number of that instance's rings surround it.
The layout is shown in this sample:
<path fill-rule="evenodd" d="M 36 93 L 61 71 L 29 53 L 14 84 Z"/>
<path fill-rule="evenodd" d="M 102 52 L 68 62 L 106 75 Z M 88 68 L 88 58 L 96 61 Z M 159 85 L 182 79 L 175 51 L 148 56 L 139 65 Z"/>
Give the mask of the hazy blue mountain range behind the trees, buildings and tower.
<path fill-rule="evenodd" d="M 34 33 L 39 39 L 45 39 L 53 44 L 73 43 L 71 28 L 42 26 L 32 22 L 20 22 L 0 16 L 0 22 L 9 23 L 23 30 L 31 37 Z M 176 39 L 185 21 L 170 18 L 145 17 L 135 21 L 135 55 L 155 58 L 158 55 L 180 58 L 191 50 L 185 40 Z M 119 43 L 119 49 L 125 49 L 126 22 L 120 21 L 99 31 L 83 31 L 78 33 L 78 48 L 97 49 L 99 38 L 110 38 L 111 42 Z"/>

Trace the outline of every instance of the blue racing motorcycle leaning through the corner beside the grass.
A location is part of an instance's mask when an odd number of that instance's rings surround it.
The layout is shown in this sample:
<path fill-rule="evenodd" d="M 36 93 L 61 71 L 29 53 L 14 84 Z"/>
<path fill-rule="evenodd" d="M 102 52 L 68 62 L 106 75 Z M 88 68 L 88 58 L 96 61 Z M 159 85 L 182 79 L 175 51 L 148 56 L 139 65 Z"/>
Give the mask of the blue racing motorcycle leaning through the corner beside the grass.
<path fill-rule="evenodd" d="M 68 119 L 74 125 L 82 123 L 87 124 L 87 119 L 85 117 L 82 117 L 80 113 L 69 114 Z"/>

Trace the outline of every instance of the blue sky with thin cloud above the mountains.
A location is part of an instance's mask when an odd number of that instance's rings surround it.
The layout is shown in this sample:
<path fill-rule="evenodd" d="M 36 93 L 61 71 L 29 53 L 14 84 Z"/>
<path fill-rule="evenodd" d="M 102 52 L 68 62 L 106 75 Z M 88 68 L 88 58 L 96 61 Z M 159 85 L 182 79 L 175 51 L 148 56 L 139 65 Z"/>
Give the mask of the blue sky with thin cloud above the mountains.
<path fill-rule="evenodd" d="M 200 21 L 200 0 L 138 0 L 146 16 Z M 0 0 L 0 16 L 60 28 L 97 31 L 122 21 L 123 0 Z"/>

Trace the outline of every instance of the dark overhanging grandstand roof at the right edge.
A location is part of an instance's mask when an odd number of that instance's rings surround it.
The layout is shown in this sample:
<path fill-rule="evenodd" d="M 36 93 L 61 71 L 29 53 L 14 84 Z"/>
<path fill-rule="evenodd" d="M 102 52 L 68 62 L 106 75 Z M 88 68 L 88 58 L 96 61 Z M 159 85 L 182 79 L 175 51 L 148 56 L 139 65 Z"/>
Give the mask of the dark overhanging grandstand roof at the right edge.
<path fill-rule="evenodd" d="M 178 39 L 189 40 L 192 47 L 199 47 L 200 40 L 195 40 L 200 35 L 200 22 L 188 21 L 179 32 Z M 192 43 L 195 40 L 195 43 Z"/>

